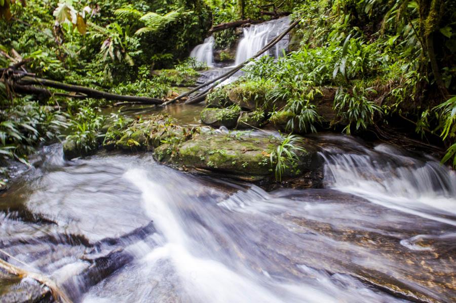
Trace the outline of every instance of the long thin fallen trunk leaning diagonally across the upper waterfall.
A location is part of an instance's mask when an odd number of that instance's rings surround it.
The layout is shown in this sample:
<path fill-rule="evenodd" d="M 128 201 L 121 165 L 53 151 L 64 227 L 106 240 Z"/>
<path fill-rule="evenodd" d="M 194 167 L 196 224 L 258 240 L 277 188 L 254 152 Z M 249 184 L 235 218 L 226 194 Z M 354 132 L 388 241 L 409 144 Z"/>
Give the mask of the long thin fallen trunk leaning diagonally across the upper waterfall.
<path fill-rule="evenodd" d="M 187 102 L 185 102 L 185 104 L 194 104 L 194 103 L 198 103 L 198 102 L 201 102 L 201 97 L 203 95 L 205 95 L 207 92 L 209 92 L 211 89 L 213 89 L 215 86 L 218 85 L 218 83 L 220 81 L 223 81 L 229 77 L 231 77 L 232 75 L 234 75 L 238 70 L 240 70 L 241 68 L 243 68 L 248 62 L 250 62 L 251 59 L 254 59 L 254 58 L 257 58 L 259 56 L 261 56 L 264 52 L 268 51 L 269 49 L 271 49 L 273 46 L 275 46 L 287 33 L 289 33 L 296 25 L 299 24 L 299 20 L 296 20 L 294 21 L 293 23 L 290 24 L 290 26 L 287 27 L 287 29 L 285 29 L 280 35 L 278 35 L 276 38 L 274 38 L 273 40 L 271 40 L 263 49 L 261 49 L 258 53 L 256 53 L 252 58 L 242 62 L 241 64 L 235 66 L 233 69 L 231 69 L 229 72 L 227 73 L 224 73 L 223 75 L 220 75 L 206 83 L 203 83 L 199 86 L 197 86 L 196 88 L 194 88 L 193 90 L 189 91 L 189 92 L 186 92 L 184 94 L 181 94 L 179 96 L 177 96 L 176 98 L 172 99 L 172 100 L 169 100 L 165 103 L 162 104 L 162 106 L 166 106 L 168 104 L 171 104 L 183 97 L 186 97 L 210 84 L 212 84 L 208 89 L 204 90 L 203 92 L 199 93 L 197 96 L 195 96 L 194 98 L 192 99 L 189 99 Z"/>

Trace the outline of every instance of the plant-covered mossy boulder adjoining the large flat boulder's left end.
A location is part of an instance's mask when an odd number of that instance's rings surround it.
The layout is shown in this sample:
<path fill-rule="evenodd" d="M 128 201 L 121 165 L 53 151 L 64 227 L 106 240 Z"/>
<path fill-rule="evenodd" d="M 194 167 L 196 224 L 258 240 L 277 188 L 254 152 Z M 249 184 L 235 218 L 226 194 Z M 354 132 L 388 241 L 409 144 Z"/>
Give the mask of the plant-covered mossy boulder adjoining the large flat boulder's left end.
<path fill-rule="evenodd" d="M 186 136 L 186 129 L 176 120 L 163 114 L 151 115 L 147 120 L 136 121 L 130 125 L 116 142 L 122 150 L 153 150 L 163 141 L 180 141 Z"/>

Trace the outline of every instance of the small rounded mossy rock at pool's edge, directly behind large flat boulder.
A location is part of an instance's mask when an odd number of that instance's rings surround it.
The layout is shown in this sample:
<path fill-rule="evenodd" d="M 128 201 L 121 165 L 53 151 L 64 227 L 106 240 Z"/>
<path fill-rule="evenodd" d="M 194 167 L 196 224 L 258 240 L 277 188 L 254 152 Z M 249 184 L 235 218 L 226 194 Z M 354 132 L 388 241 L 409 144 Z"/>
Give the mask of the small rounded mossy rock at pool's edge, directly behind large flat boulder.
<path fill-rule="evenodd" d="M 205 108 L 201 111 L 201 122 L 213 127 L 235 128 L 241 109 L 238 106 L 227 108 Z"/>

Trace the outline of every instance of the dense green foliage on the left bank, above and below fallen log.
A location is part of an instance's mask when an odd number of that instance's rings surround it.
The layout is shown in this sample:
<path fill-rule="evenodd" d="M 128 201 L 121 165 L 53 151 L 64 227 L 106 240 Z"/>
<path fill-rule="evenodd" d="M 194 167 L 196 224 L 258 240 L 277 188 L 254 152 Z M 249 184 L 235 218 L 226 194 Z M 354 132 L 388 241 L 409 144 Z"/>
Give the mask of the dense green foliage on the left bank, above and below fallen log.
<path fill-rule="evenodd" d="M 196 70 L 205 68 L 184 60 L 210 26 L 209 8 L 201 1 L 8 4 L 9 18 L 0 18 L 0 67 L 28 60 L 26 70 L 42 77 L 157 98 L 169 95 L 172 85 L 194 83 Z M 174 65 L 175 72 L 151 74 Z M 68 138 L 85 148 L 103 136 L 102 124 L 108 123 L 99 110 L 107 104 L 103 100 L 21 98 L 8 83 L 0 85 L 3 156 L 25 162 L 37 145 L 65 128 Z"/>

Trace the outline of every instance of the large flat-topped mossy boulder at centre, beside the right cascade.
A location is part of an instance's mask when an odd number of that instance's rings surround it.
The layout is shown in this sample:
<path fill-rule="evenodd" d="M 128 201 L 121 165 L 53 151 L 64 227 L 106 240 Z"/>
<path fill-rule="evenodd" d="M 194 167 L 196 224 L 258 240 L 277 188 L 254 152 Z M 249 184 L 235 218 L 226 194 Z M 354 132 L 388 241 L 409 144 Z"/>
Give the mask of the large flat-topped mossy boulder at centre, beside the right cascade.
<path fill-rule="evenodd" d="M 281 140 L 244 133 L 195 135 L 177 146 L 160 146 L 154 156 L 159 161 L 183 169 L 213 171 L 241 180 L 273 178 L 275 163 L 271 162 L 271 153 L 277 150 Z M 305 145 L 305 152 L 298 153 L 299 161 L 289 165 L 283 176 L 296 176 L 319 166 L 315 165 L 316 162 L 321 164 L 317 148 L 308 141 L 302 144 Z"/>

